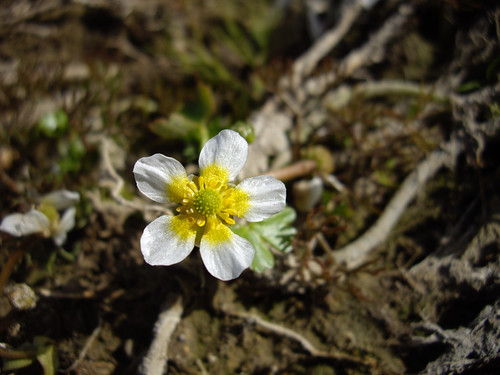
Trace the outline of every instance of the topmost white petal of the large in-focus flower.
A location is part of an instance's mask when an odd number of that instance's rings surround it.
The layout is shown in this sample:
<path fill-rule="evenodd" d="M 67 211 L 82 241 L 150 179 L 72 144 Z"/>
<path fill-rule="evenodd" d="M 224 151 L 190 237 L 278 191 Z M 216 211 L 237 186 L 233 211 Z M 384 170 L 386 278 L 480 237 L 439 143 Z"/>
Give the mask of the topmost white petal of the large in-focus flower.
<path fill-rule="evenodd" d="M 233 181 L 245 165 L 248 156 L 248 143 L 234 130 L 222 130 L 215 137 L 208 140 L 203 146 L 199 164 L 201 174 L 207 168 L 216 167 L 217 174 L 220 170 L 227 173 L 225 181 Z M 204 176 L 205 177 L 205 176 Z"/>

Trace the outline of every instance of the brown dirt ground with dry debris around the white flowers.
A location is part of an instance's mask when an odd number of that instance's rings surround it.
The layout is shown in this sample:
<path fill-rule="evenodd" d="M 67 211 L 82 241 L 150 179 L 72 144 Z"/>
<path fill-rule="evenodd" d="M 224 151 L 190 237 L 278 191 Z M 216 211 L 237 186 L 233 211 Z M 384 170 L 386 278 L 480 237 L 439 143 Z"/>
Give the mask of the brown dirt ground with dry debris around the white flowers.
<path fill-rule="evenodd" d="M 161 316 L 170 374 L 500 372 L 500 7 L 375 1 L 285 85 L 317 45 L 306 3 L 1 2 L 0 218 L 58 189 L 81 197 L 63 248 L 0 234 L 1 373 L 161 373 L 145 360 Z M 319 3 L 324 31 L 354 9 Z M 197 138 L 158 127 L 200 92 L 210 136 L 254 122 L 246 173 L 285 171 L 296 211 L 290 249 L 230 282 L 196 249 L 170 267 L 140 251 L 160 213 L 133 165 L 161 152 L 196 171 Z M 313 177 L 321 196 L 304 203 Z M 388 207 L 361 264 L 344 258 Z"/>

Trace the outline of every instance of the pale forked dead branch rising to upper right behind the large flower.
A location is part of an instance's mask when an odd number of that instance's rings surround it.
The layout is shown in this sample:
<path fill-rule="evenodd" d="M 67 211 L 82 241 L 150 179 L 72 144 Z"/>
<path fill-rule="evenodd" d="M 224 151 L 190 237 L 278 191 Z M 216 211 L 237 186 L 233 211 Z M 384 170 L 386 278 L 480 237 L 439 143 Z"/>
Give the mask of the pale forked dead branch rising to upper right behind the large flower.
<path fill-rule="evenodd" d="M 285 155 L 286 151 L 283 150 L 289 150 L 289 147 L 287 147 L 288 141 L 282 141 L 281 139 L 285 138 L 283 133 L 289 130 L 293 120 L 300 118 L 305 113 L 306 102 L 310 99 L 317 100 L 331 86 L 337 84 L 340 79 L 350 76 L 360 67 L 382 59 L 385 46 L 395 35 L 399 34 L 398 31 L 406 24 L 413 14 L 413 10 L 414 8 L 411 5 L 401 5 L 398 11 L 384 23 L 384 26 L 368 42 L 347 55 L 339 63 L 337 69 L 332 69 L 328 73 L 311 78 L 305 76 L 306 72 L 311 72 L 314 69 L 314 64 L 319 62 L 320 56 L 323 57 L 324 54 L 331 52 L 331 49 L 336 46 L 338 43 L 336 38 L 349 30 L 352 25 L 351 22 L 354 23 L 359 10 L 351 10 L 350 17 L 352 19 L 348 19 L 345 23 L 341 22 L 336 29 L 331 31 L 331 34 L 327 34 L 335 36 L 331 37 L 328 43 L 325 42 L 324 46 L 317 47 L 317 49 L 313 46 L 310 52 L 306 52 L 303 57 L 299 58 L 297 65 L 294 65 L 292 70 L 300 73 L 293 75 L 292 79 L 296 81 L 298 80 L 297 77 L 301 79 L 292 84 L 289 77 L 284 77 L 280 81 L 282 90 L 268 99 L 249 120 L 254 125 L 256 141 L 249 147 L 249 160 L 252 160 L 252 163 L 247 163 L 247 166 L 242 171 L 242 176 L 258 175 L 267 171 L 268 159 L 273 155 L 278 155 L 278 159 L 280 157 L 288 158 L 288 161 L 290 161 L 291 155 Z M 325 46 L 328 46 L 330 50 L 327 51 Z M 374 57 L 377 58 L 374 60 Z M 283 108 L 283 104 L 285 104 L 285 108 Z M 271 127 L 269 124 L 273 124 L 273 126 Z M 263 135 L 265 132 L 271 131 L 274 133 L 272 137 Z M 273 147 L 269 147 L 269 143 L 273 143 Z"/>

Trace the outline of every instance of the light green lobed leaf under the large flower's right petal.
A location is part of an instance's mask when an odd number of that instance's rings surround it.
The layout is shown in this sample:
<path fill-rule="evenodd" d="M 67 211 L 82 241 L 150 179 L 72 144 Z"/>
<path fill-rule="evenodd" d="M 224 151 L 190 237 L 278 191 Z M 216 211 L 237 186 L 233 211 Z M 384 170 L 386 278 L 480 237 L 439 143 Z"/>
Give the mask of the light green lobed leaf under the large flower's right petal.
<path fill-rule="evenodd" d="M 291 239 L 297 233 L 292 226 L 296 213 L 291 207 L 258 223 L 233 228 L 233 232 L 246 238 L 255 248 L 255 257 L 250 266 L 256 272 L 263 272 L 274 266 L 271 249 L 281 252 L 290 251 Z"/>

